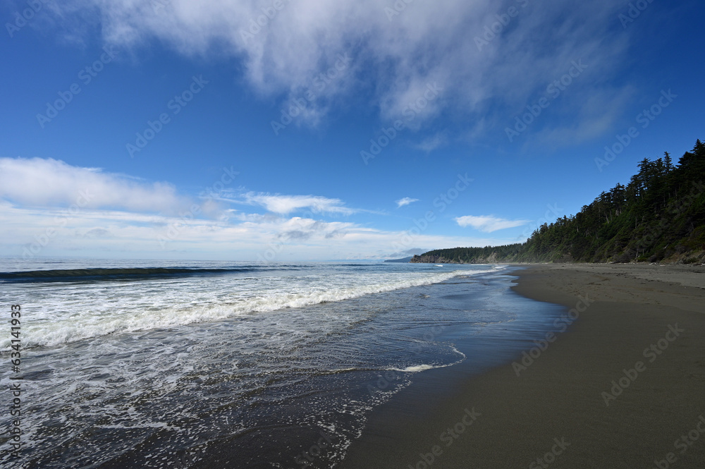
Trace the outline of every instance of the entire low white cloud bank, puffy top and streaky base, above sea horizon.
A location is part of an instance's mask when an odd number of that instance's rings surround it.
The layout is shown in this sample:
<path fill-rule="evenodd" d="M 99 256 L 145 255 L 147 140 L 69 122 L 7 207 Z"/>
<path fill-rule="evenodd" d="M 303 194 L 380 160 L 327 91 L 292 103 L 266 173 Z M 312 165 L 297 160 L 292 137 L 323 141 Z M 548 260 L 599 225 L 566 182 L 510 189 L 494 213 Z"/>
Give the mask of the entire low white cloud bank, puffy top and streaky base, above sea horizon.
<path fill-rule="evenodd" d="M 81 200 L 80 193 L 89 197 Z M 404 200 L 412 199 L 399 202 Z M 200 210 L 188 212 L 198 202 Z M 268 213 L 219 207 L 206 219 L 212 201 L 191 200 L 168 183 L 146 183 L 54 159 L 0 159 L 0 252 L 232 260 L 276 252 L 276 260 L 331 260 L 387 258 L 418 246 L 505 243 L 323 221 L 316 214 L 368 211 L 314 195 L 246 193 L 231 202 L 262 206 Z M 304 209 L 310 211 L 306 217 L 289 216 Z"/>

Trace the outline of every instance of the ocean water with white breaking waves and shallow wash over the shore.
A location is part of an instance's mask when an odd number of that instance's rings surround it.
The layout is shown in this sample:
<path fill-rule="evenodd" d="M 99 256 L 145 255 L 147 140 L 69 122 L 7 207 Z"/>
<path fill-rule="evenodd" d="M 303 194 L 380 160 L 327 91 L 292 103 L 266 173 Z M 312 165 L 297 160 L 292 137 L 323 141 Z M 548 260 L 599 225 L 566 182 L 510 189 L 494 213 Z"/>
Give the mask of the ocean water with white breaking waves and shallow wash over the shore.
<path fill-rule="evenodd" d="M 2 264 L 4 468 L 331 468 L 415 377 L 505 363 L 561 312 L 494 265 Z"/>

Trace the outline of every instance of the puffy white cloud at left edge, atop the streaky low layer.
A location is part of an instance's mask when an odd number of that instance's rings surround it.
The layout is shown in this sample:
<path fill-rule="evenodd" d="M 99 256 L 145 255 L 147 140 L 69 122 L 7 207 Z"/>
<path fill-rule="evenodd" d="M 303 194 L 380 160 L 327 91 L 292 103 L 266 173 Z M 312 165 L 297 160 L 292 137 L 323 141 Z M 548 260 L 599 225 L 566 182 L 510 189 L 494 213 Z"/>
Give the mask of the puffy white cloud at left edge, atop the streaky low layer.
<path fill-rule="evenodd" d="M 144 183 L 56 159 L 0 158 L 0 197 L 31 207 L 176 213 L 190 206 L 168 183 Z"/>

